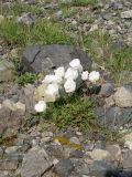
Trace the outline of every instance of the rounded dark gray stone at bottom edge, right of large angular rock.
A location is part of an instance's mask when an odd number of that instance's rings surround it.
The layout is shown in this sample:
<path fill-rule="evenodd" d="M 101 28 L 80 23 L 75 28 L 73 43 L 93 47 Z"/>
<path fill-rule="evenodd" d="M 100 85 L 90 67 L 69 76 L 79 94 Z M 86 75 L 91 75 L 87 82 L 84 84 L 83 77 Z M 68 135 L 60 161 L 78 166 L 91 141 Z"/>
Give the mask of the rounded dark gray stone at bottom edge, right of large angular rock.
<path fill-rule="evenodd" d="M 70 159 L 61 159 L 54 167 L 54 171 L 59 177 L 67 177 L 74 170 L 74 165 Z"/>

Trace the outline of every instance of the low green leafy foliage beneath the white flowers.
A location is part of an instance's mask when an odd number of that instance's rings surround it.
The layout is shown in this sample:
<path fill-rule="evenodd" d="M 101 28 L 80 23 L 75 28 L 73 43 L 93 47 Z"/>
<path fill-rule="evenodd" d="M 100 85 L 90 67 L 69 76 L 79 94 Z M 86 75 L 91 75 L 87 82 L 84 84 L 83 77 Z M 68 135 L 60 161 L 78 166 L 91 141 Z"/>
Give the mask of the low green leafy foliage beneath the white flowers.
<path fill-rule="evenodd" d="M 46 113 L 40 114 L 44 121 L 51 119 L 59 129 L 66 129 L 69 126 L 78 127 L 82 132 L 92 129 L 95 116 L 92 104 L 89 97 L 80 98 L 74 95 L 68 98 L 62 98 L 50 105 Z"/>

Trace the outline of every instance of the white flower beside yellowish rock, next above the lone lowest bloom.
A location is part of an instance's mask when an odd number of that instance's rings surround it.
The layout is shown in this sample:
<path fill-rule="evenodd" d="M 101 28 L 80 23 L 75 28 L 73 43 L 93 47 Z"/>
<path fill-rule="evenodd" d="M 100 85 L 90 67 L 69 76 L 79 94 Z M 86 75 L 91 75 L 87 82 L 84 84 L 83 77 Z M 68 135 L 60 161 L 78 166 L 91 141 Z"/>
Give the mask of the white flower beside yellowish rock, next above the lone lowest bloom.
<path fill-rule="evenodd" d="M 46 95 L 58 95 L 58 85 L 57 84 L 50 84 L 45 91 Z"/>

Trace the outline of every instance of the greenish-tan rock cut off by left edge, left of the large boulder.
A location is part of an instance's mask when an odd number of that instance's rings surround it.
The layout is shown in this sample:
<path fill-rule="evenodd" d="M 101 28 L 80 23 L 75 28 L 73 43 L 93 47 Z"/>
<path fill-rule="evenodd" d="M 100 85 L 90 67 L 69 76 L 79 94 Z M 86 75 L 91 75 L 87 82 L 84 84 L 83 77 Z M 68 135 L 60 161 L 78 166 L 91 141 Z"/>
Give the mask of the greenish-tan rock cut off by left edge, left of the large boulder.
<path fill-rule="evenodd" d="M 14 79 L 14 65 L 6 60 L 0 61 L 0 82 L 13 81 Z"/>

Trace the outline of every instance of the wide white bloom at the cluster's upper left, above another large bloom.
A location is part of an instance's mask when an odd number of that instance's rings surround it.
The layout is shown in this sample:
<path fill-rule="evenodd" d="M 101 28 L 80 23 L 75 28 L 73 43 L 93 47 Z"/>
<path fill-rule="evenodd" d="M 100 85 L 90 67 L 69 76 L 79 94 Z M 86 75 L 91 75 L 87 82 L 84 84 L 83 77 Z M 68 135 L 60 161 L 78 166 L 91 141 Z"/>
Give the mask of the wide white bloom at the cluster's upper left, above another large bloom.
<path fill-rule="evenodd" d="M 62 83 L 62 77 L 58 75 L 50 74 L 46 75 L 42 83 L 50 84 L 50 83 Z"/>

